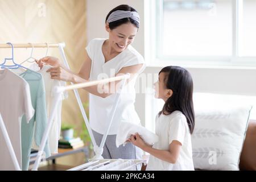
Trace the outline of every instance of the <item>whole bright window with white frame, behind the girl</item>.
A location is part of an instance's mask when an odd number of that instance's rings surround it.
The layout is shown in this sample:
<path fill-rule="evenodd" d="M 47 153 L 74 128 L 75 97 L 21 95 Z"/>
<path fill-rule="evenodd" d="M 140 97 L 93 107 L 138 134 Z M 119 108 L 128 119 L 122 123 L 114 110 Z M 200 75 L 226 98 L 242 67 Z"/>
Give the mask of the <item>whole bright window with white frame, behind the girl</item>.
<path fill-rule="evenodd" d="M 148 4 L 145 41 L 151 63 L 256 65 L 256 1 L 151 0 Z"/>

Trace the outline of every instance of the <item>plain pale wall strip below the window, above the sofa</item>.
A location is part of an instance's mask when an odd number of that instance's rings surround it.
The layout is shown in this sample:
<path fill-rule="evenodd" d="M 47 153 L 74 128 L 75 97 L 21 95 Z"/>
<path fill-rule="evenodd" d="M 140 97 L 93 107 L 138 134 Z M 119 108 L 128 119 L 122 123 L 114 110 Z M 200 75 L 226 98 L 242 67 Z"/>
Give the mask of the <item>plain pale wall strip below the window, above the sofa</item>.
<path fill-rule="evenodd" d="M 256 70 L 231 68 L 187 68 L 193 77 L 194 92 L 256 96 Z M 144 73 L 158 73 L 147 67 Z"/>

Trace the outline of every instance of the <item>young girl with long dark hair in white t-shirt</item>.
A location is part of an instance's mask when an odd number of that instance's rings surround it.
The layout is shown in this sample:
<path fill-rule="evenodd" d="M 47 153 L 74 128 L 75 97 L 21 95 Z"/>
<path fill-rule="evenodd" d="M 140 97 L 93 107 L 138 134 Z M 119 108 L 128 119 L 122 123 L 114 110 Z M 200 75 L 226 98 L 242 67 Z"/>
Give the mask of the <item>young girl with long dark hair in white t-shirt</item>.
<path fill-rule="evenodd" d="M 194 170 L 191 134 L 195 126 L 193 110 L 193 81 L 181 67 L 165 67 L 154 84 L 155 97 L 164 100 L 162 111 L 156 116 L 156 135 L 159 141 L 148 146 L 138 135 L 129 139 L 148 152 L 147 170 Z"/>

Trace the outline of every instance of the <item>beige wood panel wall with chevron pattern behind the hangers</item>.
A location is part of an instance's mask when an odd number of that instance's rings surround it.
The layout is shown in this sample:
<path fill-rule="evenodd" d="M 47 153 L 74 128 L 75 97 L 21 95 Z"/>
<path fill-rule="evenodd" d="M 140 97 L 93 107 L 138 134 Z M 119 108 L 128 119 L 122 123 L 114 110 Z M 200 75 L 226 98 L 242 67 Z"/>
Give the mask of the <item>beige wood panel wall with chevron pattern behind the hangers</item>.
<path fill-rule="evenodd" d="M 65 54 L 69 66 L 78 72 L 84 61 L 86 47 L 86 1 L 85 0 L 0 0 L 0 43 L 59 43 L 65 42 Z M 29 57 L 31 49 L 15 49 L 17 63 Z M 34 50 L 40 59 L 45 48 Z M 10 49 L 0 49 L 0 63 L 10 57 Z M 57 48 L 51 48 L 49 56 L 60 57 Z M 28 66 L 28 65 L 26 65 Z M 82 101 L 87 94 L 80 90 Z M 81 114 L 73 92 L 63 102 L 62 121 L 76 125 L 80 133 Z"/>

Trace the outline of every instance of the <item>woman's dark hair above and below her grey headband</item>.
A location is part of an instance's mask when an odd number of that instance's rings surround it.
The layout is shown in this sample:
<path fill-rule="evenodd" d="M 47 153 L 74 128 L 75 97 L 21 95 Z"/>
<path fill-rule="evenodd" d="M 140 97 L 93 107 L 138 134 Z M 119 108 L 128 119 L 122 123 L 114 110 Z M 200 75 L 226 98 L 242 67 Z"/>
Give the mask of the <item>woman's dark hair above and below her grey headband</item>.
<path fill-rule="evenodd" d="M 117 10 L 123 10 L 123 11 L 136 11 L 133 7 L 129 6 L 129 5 L 119 5 L 117 7 L 115 7 L 113 10 L 111 10 L 109 12 L 109 14 L 106 16 L 106 20 L 105 20 L 105 23 L 106 21 L 108 20 L 109 18 L 109 15 L 112 14 L 114 11 L 117 11 Z M 137 12 L 137 11 L 136 11 Z M 121 24 L 125 24 L 127 22 L 131 22 L 133 23 L 137 28 L 139 28 L 139 23 L 136 22 L 135 20 L 131 19 L 131 18 L 123 18 L 123 19 L 119 19 L 119 20 L 116 20 L 114 22 L 110 22 L 109 23 L 109 28 L 110 30 L 113 30 L 114 28 L 120 26 Z"/>

